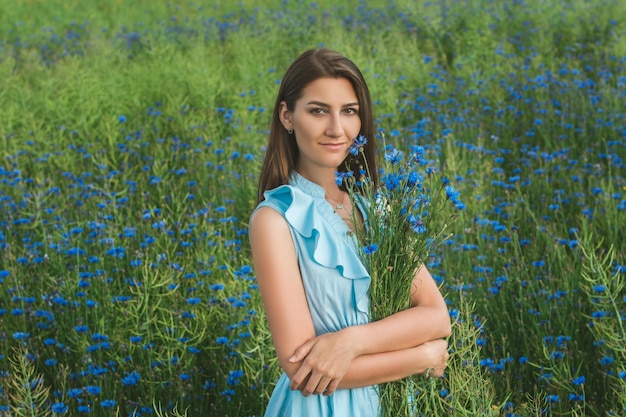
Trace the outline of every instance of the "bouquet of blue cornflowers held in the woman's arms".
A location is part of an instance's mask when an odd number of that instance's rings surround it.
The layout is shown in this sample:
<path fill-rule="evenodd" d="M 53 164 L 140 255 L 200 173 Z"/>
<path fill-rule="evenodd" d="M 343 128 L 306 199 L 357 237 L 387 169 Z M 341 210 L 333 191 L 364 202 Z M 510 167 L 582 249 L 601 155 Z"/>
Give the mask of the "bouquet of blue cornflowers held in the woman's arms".
<path fill-rule="evenodd" d="M 356 138 L 351 155 L 357 156 L 366 143 L 365 137 Z M 416 271 L 465 205 L 449 180 L 429 165 L 422 146 L 410 147 L 405 156 L 386 145 L 378 186 L 366 175 L 368 169 L 338 174 L 337 182 L 353 202 L 360 200 L 367 217 L 366 227 L 356 234 L 371 276 L 370 319 L 376 321 L 409 307 Z M 411 405 L 416 388 L 414 377 L 379 385 L 383 416 L 417 415 L 412 411 L 417 405 Z"/>

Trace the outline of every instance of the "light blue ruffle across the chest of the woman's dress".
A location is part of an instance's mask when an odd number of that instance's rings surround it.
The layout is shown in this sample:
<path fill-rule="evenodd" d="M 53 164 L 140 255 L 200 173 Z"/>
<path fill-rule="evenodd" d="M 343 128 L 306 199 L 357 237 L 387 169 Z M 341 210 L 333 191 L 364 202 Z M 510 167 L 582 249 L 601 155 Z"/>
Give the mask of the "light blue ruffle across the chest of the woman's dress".
<path fill-rule="evenodd" d="M 347 279 L 354 280 L 357 310 L 369 315 L 370 275 L 356 252 L 356 238 L 324 198 L 324 189 L 302 177 L 292 176 L 292 183 L 264 193 L 262 205 L 279 208 L 284 217 L 305 242 L 306 250 L 319 265 L 336 269 Z M 351 244 L 352 242 L 353 244 Z"/>

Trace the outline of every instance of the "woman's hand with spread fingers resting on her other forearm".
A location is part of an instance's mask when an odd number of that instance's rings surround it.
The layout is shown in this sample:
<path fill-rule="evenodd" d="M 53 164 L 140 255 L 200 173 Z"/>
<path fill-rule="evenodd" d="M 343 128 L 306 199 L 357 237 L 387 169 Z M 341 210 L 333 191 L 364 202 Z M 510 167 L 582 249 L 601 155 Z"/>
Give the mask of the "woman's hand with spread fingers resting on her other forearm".
<path fill-rule="evenodd" d="M 326 333 L 298 347 L 289 358 L 289 362 L 301 362 L 291 378 L 291 389 L 302 391 L 305 397 L 335 392 L 357 356 L 347 336 L 345 331 Z"/>

